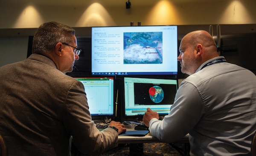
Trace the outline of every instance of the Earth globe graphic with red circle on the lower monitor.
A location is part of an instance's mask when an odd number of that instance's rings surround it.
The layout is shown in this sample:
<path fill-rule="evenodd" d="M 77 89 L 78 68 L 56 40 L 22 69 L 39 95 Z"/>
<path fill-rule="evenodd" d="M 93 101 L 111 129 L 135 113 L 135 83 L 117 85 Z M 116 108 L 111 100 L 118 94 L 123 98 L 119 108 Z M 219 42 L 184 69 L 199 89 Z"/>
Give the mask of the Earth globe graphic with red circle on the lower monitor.
<path fill-rule="evenodd" d="M 155 102 L 159 103 L 163 100 L 163 89 L 157 85 L 149 88 L 148 90 L 150 99 Z"/>

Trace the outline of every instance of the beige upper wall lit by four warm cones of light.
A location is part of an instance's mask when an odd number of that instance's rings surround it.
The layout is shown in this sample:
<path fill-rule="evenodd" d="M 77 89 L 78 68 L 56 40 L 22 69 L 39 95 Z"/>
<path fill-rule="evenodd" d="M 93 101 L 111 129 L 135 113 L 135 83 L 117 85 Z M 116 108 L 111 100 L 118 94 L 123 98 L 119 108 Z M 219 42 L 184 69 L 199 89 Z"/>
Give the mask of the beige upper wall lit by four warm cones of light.
<path fill-rule="evenodd" d="M 256 0 L 131 0 L 131 9 L 127 0 L 16 1 L 0 1 L 0 28 L 37 28 L 52 20 L 72 27 L 256 23 Z"/>

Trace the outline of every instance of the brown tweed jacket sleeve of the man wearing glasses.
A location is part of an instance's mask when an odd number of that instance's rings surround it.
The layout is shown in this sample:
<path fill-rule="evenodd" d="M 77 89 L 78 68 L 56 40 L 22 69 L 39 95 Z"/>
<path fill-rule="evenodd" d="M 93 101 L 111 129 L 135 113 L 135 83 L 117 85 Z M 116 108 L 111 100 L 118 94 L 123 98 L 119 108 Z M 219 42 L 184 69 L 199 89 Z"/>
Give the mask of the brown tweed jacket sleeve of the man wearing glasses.
<path fill-rule="evenodd" d="M 83 153 L 100 154 L 118 145 L 118 133 L 112 128 L 99 131 L 91 119 L 84 85 L 76 81 L 71 85 L 66 98 L 63 114 L 67 133 Z"/>

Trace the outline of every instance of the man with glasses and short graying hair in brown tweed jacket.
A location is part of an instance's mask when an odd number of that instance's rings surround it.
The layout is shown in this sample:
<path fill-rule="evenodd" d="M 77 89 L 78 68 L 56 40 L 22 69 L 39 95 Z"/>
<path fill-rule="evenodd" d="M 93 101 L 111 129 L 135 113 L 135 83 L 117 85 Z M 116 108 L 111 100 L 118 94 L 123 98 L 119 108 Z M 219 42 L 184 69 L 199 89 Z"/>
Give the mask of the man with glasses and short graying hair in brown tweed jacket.
<path fill-rule="evenodd" d="M 111 121 L 99 131 L 84 85 L 64 74 L 80 52 L 73 28 L 49 22 L 38 28 L 26 60 L 0 67 L 0 135 L 8 156 L 68 156 L 71 136 L 87 154 L 118 145 L 124 125 Z"/>

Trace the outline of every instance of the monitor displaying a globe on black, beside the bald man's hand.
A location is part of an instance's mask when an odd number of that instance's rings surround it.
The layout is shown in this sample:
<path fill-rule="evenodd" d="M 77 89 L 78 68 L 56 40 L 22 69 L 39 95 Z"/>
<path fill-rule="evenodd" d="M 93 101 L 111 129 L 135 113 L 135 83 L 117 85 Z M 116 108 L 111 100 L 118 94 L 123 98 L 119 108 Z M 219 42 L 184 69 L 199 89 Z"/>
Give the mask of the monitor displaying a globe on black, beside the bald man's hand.
<path fill-rule="evenodd" d="M 177 79 L 124 77 L 124 117 L 143 116 L 147 108 L 165 116 L 177 93 Z"/>

